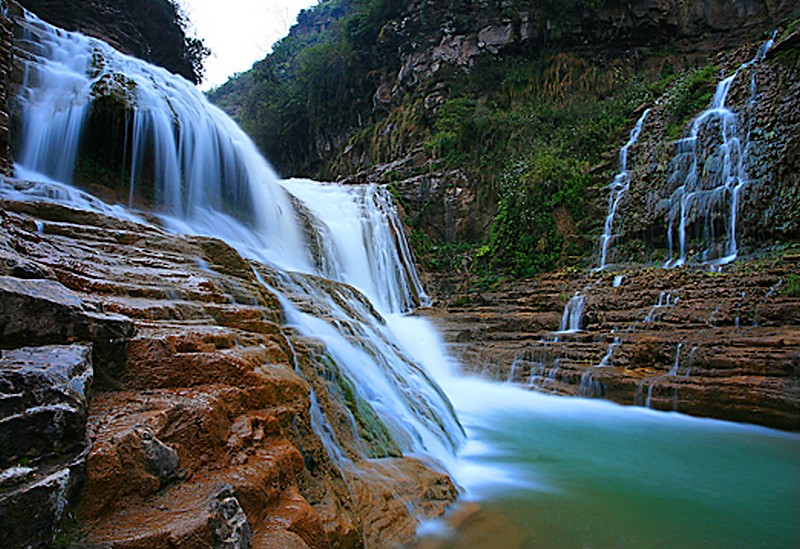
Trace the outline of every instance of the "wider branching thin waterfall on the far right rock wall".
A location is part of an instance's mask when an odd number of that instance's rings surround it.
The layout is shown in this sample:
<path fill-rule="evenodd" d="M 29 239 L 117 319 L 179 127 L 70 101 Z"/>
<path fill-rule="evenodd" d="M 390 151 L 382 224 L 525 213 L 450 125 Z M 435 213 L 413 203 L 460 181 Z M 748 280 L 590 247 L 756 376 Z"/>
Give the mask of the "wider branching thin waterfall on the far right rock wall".
<path fill-rule="evenodd" d="M 769 40 L 752 60 L 717 85 L 711 106 L 695 118 L 688 136 L 676 143 L 669 179 L 674 189 L 667 228 L 670 259 L 665 267 L 687 261 L 724 265 L 738 256 L 739 194 L 748 182 L 748 135 L 742 134 L 738 116 L 726 101 L 739 73 L 761 62 L 772 44 Z M 751 94 L 754 102 L 755 81 Z"/>

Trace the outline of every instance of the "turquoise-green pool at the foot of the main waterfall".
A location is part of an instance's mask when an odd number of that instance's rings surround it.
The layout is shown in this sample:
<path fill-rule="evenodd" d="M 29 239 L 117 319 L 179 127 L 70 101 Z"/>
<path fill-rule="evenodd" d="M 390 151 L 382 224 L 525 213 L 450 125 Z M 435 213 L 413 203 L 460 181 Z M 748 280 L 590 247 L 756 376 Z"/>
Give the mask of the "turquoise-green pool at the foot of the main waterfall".
<path fill-rule="evenodd" d="M 800 547 L 800 436 L 478 380 L 447 389 L 469 434 L 465 497 L 524 547 Z"/>

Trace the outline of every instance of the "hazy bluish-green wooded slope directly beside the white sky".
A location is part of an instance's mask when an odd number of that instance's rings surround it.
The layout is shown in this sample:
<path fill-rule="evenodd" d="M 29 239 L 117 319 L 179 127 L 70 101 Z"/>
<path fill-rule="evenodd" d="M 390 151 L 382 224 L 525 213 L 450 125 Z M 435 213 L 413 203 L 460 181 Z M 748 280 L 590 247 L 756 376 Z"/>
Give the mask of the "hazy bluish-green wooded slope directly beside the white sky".
<path fill-rule="evenodd" d="M 316 147 L 364 122 L 377 82 L 396 71 L 377 60 L 376 44 L 402 8 L 393 0 L 323 1 L 298 16 L 319 32 L 284 38 L 249 77 L 210 97 L 223 108 L 236 105 L 237 121 L 284 173 L 316 171 Z"/>

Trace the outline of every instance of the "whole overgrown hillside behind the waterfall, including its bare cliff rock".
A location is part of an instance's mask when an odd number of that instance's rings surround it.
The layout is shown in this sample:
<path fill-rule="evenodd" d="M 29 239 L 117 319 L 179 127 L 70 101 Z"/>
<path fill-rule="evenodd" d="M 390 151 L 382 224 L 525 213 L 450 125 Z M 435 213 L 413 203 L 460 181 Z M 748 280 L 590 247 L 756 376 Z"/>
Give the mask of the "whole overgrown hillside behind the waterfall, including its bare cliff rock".
<path fill-rule="evenodd" d="M 392 184 L 429 271 L 587 266 L 644 108 L 677 139 L 796 9 L 651 4 L 324 1 L 211 99 L 284 175 Z"/>

